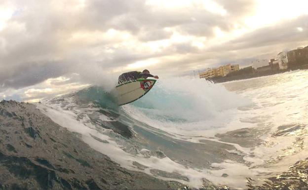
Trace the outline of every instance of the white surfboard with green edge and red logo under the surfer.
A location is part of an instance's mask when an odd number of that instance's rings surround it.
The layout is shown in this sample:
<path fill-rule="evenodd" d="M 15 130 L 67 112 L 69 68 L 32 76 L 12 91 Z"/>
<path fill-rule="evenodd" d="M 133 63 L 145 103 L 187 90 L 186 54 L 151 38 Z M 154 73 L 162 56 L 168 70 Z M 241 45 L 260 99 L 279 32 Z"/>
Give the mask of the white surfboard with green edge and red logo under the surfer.
<path fill-rule="evenodd" d="M 155 82 L 155 79 L 137 79 L 117 85 L 115 88 L 117 104 L 122 106 L 138 100 L 151 90 Z"/>

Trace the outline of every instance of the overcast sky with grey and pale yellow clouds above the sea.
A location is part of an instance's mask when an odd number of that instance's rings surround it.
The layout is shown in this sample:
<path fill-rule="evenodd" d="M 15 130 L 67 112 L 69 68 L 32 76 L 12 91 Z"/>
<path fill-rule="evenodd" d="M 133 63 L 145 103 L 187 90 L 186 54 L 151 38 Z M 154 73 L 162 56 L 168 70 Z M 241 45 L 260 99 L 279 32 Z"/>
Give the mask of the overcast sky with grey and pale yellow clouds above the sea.
<path fill-rule="evenodd" d="M 37 102 L 128 71 L 193 75 L 308 45 L 308 0 L 0 0 L 0 99 Z"/>

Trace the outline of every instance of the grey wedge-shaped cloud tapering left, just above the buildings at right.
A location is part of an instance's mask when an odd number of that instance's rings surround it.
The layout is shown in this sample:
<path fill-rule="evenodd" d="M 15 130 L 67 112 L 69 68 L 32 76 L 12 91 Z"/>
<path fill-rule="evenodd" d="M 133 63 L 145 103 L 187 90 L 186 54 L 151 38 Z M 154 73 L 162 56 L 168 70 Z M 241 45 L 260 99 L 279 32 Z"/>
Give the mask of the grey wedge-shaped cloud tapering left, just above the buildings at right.
<path fill-rule="evenodd" d="M 295 48 L 298 45 L 308 43 L 308 33 L 298 31 L 298 26 L 301 26 L 303 30 L 308 30 L 308 15 L 257 29 L 239 38 L 213 46 L 209 50 L 214 52 L 247 52 L 247 50 L 250 50 L 250 54 L 258 56 L 258 54 L 264 52 L 274 51 L 276 53 L 283 49 L 290 49 L 290 47 Z M 258 53 L 255 53 L 256 50 L 258 50 Z"/>

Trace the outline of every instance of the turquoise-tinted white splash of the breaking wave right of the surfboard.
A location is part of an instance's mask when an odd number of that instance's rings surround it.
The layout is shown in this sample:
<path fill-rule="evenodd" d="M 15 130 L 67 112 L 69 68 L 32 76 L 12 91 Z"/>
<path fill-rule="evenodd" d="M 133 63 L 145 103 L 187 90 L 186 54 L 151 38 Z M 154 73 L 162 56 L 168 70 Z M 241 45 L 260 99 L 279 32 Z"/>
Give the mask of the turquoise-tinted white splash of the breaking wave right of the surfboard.
<path fill-rule="evenodd" d="M 209 137 L 218 128 L 234 129 L 229 123 L 240 112 L 237 108 L 249 104 L 249 99 L 227 91 L 220 84 L 168 78 L 157 81 L 147 96 L 122 109 L 138 121 L 173 135 Z"/>

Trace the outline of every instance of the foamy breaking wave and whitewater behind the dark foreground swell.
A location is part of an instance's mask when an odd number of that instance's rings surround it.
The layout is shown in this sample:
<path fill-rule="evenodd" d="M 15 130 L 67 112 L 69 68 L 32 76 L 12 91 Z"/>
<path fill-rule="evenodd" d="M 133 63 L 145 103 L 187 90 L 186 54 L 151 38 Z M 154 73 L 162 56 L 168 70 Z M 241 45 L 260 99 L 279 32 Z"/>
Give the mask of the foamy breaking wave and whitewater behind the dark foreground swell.
<path fill-rule="evenodd" d="M 37 106 L 122 167 L 192 188 L 257 189 L 308 157 L 307 70 L 220 84 L 161 78 L 122 107 L 92 86 Z"/>

